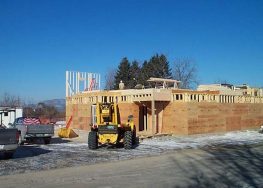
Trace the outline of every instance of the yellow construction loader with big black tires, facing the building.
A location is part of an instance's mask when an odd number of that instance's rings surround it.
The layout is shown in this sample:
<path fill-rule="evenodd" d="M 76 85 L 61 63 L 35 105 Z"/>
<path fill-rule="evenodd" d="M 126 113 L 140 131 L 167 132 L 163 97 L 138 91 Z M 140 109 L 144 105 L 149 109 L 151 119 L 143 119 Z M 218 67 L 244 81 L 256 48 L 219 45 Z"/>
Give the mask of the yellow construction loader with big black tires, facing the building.
<path fill-rule="evenodd" d="M 123 143 L 125 149 L 132 149 L 136 143 L 136 130 L 133 116 L 122 124 L 116 103 L 97 103 L 96 122 L 91 125 L 88 145 L 90 149 L 97 149 L 98 145 Z"/>

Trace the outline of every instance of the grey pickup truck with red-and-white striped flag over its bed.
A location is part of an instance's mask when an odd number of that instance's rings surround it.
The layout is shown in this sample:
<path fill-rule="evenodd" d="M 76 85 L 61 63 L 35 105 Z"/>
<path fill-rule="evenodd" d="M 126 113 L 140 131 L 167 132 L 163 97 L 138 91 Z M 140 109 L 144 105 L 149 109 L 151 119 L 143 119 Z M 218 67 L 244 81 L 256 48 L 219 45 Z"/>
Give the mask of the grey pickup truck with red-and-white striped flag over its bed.
<path fill-rule="evenodd" d="M 13 127 L 20 133 L 19 144 L 35 142 L 38 139 L 43 139 L 45 144 L 49 144 L 54 136 L 54 125 L 41 124 L 39 118 L 17 118 Z"/>

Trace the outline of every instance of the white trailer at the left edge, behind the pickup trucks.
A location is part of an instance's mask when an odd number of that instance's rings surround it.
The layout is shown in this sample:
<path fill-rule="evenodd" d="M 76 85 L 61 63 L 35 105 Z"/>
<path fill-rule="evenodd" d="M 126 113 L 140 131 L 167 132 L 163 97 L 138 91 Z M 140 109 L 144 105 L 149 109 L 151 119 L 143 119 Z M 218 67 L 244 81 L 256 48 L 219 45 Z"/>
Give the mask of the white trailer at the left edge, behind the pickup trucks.
<path fill-rule="evenodd" d="M 23 116 L 22 108 L 0 107 L 0 125 L 10 128 L 16 118 Z"/>

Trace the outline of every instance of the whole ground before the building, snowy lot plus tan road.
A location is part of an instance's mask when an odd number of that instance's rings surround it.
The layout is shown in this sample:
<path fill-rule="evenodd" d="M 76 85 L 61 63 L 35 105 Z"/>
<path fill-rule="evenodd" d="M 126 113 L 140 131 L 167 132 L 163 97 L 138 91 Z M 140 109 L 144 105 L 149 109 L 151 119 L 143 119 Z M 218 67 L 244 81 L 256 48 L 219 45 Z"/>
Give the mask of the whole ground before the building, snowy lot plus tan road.
<path fill-rule="evenodd" d="M 96 151 L 87 148 L 85 132 L 78 134 L 71 141 L 25 145 L 13 159 L 0 160 L 0 187 L 263 185 L 263 135 L 256 131 L 158 137 L 133 150 Z"/>

